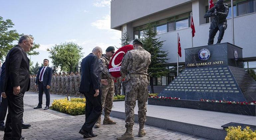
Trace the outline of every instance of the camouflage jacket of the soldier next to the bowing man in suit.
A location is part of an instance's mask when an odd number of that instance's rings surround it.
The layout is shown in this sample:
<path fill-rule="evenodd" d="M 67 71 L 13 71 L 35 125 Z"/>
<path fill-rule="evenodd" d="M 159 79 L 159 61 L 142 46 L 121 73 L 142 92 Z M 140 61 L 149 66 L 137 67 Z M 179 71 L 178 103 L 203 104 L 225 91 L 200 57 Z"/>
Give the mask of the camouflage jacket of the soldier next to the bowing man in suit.
<path fill-rule="evenodd" d="M 108 71 L 109 61 L 110 59 L 106 56 L 106 54 L 103 54 L 100 57 L 99 59 L 100 79 L 103 79 L 103 76 L 107 76 L 107 78 L 111 77 Z"/>

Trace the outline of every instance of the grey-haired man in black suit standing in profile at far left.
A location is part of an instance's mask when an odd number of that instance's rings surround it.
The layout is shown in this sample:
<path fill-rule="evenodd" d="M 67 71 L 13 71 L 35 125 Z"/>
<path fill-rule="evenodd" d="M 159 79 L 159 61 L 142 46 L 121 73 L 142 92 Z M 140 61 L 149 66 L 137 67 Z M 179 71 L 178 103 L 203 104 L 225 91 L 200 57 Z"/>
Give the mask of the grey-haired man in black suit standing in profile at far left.
<path fill-rule="evenodd" d="M 13 47 L 5 59 L 5 83 L 3 91 L 8 100 L 8 114 L 4 139 L 24 140 L 21 136 L 23 117 L 23 96 L 30 88 L 29 59 L 26 52 L 33 46 L 34 38 L 22 35 L 18 45 Z"/>

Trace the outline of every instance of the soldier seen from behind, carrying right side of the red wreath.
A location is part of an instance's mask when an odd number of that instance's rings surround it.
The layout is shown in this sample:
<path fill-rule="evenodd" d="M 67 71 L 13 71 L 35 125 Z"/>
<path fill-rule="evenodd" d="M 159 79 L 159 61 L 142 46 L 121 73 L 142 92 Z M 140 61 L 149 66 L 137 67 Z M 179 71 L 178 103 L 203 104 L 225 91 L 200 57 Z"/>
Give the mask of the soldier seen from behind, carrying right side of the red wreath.
<path fill-rule="evenodd" d="M 134 107 L 138 100 L 139 132 L 138 136 L 146 135 L 144 123 L 146 121 L 146 103 L 148 101 L 148 67 L 151 63 L 151 54 L 142 48 L 140 39 L 133 41 L 133 50 L 128 51 L 121 65 L 121 75 L 127 78 L 125 95 L 125 127 L 126 132 L 117 137 L 117 140 L 134 139 L 132 127 L 134 124 Z"/>

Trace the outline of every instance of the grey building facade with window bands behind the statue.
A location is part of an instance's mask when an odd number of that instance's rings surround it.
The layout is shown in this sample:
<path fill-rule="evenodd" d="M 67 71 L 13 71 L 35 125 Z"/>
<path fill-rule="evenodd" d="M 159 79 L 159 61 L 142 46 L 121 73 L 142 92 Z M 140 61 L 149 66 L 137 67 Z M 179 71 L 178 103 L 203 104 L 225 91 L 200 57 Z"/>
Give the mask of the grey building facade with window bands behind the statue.
<path fill-rule="evenodd" d="M 214 3 L 216 1 L 213 0 Z M 222 42 L 232 43 L 231 1 L 224 0 L 224 3 L 228 4 L 229 14 Z M 234 0 L 233 9 L 235 45 L 243 48 L 244 68 L 253 77 L 256 71 L 256 0 Z M 154 78 L 154 85 L 166 86 L 177 74 L 177 33 L 182 47 L 179 72 L 185 68 L 184 49 L 192 47 L 191 12 L 196 31 L 193 46 L 207 45 L 209 18 L 203 18 L 207 10 L 208 0 L 112 0 L 111 29 L 122 31 L 122 35 L 127 32 L 131 39 L 135 39 L 143 38 L 147 24 L 152 24 L 157 37 L 165 40 L 163 50 L 168 51 L 166 66 L 170 69 L 167 76 Z M 217 42 L 217 36 L 218 33 L 214 43 Z"/>

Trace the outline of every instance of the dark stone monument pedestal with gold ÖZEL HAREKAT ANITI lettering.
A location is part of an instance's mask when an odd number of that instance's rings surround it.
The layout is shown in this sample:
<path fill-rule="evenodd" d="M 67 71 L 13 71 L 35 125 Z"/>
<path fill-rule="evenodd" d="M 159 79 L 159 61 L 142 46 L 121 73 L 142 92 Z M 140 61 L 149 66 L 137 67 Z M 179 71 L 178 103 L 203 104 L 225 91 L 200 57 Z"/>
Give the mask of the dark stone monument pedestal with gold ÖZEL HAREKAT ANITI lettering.
<path fill-rule="evenodd" d="M 181 100 L 256 100 L 256 82 L 243 69 L 242 48 L 220 43 L 185 49 L 186 69 L 159 96 Z"/>

